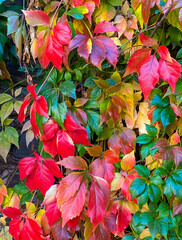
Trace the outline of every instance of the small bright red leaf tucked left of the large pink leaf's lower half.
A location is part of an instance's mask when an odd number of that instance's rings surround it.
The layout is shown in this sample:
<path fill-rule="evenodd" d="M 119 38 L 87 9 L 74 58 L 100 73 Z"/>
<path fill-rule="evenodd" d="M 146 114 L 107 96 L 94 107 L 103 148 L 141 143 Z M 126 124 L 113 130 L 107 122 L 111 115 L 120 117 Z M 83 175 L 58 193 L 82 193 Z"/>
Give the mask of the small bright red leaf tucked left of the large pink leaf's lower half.
<path fill-rule="evenodd" d="M 58 209 L 57 202 L 48 204 L 46 206 L 45 214 L 51 227 L 61 217 L 61 212 Z"/>

